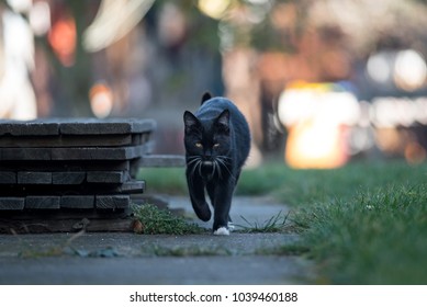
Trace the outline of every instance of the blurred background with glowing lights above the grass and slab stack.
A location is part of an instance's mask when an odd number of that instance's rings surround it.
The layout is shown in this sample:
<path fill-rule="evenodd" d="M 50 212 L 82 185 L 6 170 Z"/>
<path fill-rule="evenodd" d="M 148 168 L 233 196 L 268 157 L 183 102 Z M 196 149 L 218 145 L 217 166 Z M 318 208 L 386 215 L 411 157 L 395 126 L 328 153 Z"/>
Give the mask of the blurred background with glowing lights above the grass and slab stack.
<path fill-rule="evenodd" d="M 210 91 L 245 113 L 249 166 L 426 159 L 426 0 L 3 0 L 0 16 L 0 118 L 155 118 L 156 152 L 182 154 Z"/>

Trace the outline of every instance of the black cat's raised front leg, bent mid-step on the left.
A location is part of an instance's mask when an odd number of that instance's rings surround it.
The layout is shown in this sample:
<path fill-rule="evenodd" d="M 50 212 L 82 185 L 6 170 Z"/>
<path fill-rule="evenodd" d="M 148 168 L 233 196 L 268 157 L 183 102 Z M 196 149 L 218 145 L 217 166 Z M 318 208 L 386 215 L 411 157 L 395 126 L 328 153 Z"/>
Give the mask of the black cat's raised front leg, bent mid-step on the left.
<path fill-rule="evenodd" d="M 196 178 L 187 172 L 187 184 L 189 187 L 191 205 L 195 215 L 203 221 L 211 219 L 211 209 L 204 197 L 204 183 L 201 178 Z"/>

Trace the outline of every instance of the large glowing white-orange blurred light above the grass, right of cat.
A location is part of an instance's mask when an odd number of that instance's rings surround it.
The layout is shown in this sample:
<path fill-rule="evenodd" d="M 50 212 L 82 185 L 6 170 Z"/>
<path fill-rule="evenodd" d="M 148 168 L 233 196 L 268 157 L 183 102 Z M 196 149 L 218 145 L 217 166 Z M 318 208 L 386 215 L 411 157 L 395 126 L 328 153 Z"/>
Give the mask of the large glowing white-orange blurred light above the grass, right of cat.
<path fill-rule="evenodd" d="M 348 159 L 347 135 L 360 106 L 336 84 L 294 82 L 279 100 L 279 118 L 288 127 L 284 152 L 292 168 L 329 169 Z"/>

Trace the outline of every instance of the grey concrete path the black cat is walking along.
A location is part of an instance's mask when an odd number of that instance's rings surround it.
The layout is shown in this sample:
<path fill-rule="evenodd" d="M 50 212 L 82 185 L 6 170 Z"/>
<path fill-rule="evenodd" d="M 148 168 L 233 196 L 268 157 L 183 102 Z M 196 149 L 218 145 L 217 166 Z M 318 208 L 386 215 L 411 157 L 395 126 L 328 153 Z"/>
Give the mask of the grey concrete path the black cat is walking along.
<path fill-rule="evenodd" d="M 192 214 L 186 197 L 169 204 Z M 286 211 L 268 198 L 235 197 L 232 218 L 262 225 Z M 2 235 L 0 284 L 311 284 L 310 261 L 271 252 L 295 240 L 292 234 L 241 232 Z"/>

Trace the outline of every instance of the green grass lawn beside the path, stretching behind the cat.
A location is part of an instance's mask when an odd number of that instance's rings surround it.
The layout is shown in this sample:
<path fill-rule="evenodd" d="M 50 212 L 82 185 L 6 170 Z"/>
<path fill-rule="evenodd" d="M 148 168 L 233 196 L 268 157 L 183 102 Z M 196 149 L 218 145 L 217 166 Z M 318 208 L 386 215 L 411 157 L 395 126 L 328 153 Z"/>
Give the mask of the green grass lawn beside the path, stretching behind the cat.
<path fill-rule="evenodd" d="M 187 194 L 183 169 L 166 172 L 157 191 Z M 427 284 L 426 179 L 427 163 L 400 160 L 335 170 L 292 170 L 279 162 L 245 170 L 236 194 L 269 194 L 291 206 L 286 223 L 302 240 L 274 253 L 310 257 L 319 283 Z M 280 225 L 272 217 L 270 225 L 248 229 L 280 231 Z"/>

